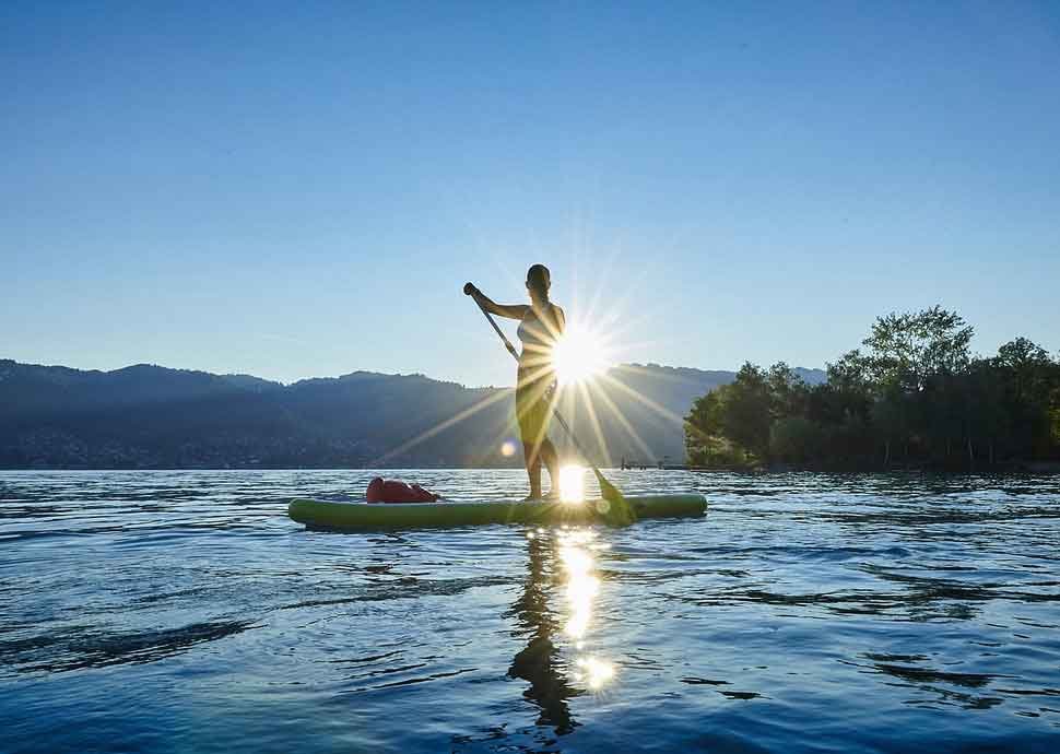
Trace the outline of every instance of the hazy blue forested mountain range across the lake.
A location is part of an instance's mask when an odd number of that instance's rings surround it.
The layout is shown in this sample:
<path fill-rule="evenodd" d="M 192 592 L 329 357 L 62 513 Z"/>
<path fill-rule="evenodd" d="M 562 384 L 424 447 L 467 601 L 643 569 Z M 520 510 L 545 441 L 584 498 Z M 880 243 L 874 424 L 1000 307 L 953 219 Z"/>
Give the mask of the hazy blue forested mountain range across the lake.
<path fill-rule="evenodd" d="M 682 417 L 734 374 L 622 365 L 589 389 L 594 417 L 575 391 L 564 410 L 599 463 L 680 462 Z M 518 466 L 514 402 L 510 388 L 423 375 L 282 385 L 146 364 L 85 372 L 0 360 L 0 468 Z"/>

